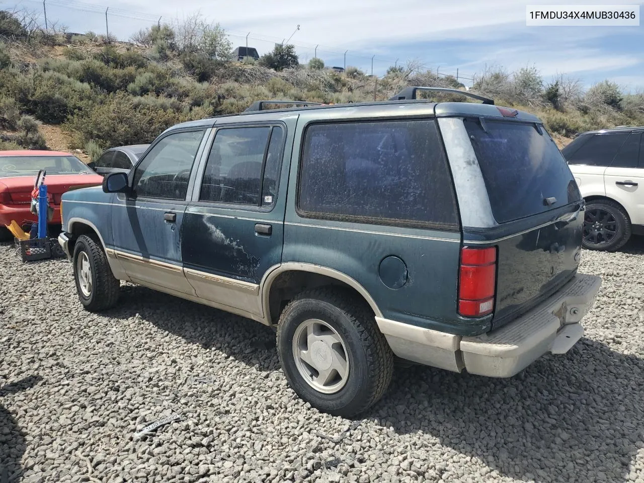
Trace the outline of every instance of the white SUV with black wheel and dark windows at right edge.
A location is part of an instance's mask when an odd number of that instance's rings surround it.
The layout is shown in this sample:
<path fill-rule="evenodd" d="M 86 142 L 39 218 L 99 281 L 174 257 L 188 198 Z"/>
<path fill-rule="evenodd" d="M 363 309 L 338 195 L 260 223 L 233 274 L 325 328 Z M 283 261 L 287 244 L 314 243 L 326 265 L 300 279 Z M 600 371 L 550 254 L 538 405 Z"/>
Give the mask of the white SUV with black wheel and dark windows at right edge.
<path fill-rule="evenodd" d="M 562 149 L 586 201 L 583 247 L 616 251 L 644 234 L 644 127 L 589 131 Z"/>

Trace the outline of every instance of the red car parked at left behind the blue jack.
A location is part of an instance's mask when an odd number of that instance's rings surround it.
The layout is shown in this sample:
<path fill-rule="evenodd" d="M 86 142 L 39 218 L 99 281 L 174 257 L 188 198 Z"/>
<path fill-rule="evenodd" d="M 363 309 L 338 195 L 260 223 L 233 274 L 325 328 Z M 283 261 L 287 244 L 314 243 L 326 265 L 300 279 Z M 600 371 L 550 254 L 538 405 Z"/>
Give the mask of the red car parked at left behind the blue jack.
<path fill-rule="evenodd" d="M 0 151 L 0 241 L 12 239 L 5 225 L 15 220 L 21 226 L 31 225 L 36 216 L 30 212 L 33 183 L 44 169 L 44 184 L 53 218 L 50 225 L 61 224 L 62 193 L 73 188 L 100 185 L 97 175 L 84 162 L 60 151 Z"/>

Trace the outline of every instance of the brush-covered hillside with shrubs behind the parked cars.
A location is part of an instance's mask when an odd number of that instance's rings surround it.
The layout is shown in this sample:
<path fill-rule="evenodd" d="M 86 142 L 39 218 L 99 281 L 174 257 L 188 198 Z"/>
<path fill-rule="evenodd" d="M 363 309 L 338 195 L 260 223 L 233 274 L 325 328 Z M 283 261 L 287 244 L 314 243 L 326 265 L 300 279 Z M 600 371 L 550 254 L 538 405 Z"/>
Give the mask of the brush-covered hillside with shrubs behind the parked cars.
<path fill-rule="evenodd" d="M 255 100 L 360 102 L 388 99 L 410 85 L 463 88 L 415 62 L 380 78 L 351 67 L 325 70 L 319 59 L 301 66 L 292 46 L 238 62 L 218 25 L 198 16 L 186 23 L 153 26 L 133 43 L 117 43 L 91 32 L 28 30 L 0 11 L 0 149 L 97 156 L 108 146 L 150 142 L 176 122 L 243 111 Z M 535 113 L 560 146 L 589 129 L 644 124 L 644 95 L 621 93 L 609 81 L 583 91 L 564 76 L 544 82 L 533 68 L 497 69 L 478 75 L 472 90 Z"/>

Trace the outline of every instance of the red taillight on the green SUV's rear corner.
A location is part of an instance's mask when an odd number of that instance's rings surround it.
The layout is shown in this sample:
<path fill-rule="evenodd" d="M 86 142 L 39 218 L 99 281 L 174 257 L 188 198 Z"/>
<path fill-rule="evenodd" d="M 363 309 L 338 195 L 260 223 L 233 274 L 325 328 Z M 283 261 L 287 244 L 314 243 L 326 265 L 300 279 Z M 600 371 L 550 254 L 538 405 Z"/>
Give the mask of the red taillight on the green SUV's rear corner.
<path fill-rule="evenodd" d="M 482 317 L 494 309 L 497 249 L 464 247 L 460 251 L 459 314 Z"/>

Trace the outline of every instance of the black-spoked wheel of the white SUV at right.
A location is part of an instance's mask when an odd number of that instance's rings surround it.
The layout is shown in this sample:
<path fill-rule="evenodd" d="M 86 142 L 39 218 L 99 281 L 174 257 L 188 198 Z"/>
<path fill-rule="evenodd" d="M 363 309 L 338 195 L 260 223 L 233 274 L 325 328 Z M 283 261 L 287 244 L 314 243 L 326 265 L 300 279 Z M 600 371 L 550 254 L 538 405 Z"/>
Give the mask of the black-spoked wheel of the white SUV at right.
<path fill-rule="evenodd" d="M 582 238 L 585 249 L 617 251 L 629 241 L 631 233 L 629 216 L 616 202 L 596 200 L 586 204 Z"/>

